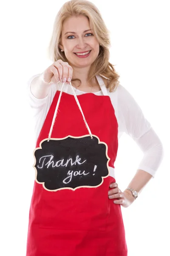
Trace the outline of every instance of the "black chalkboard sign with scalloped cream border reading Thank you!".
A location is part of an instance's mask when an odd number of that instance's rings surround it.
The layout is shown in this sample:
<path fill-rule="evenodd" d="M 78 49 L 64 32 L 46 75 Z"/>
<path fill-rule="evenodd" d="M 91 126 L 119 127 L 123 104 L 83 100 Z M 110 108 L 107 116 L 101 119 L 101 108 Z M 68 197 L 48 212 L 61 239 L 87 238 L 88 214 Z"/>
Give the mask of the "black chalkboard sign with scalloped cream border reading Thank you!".
<path fill-rule="evenodd" d="M 34 150 L 35 180 L 48 191 L 100 186 L 109 175 L 107 152 L 95 135 L 42 140 Z"/>

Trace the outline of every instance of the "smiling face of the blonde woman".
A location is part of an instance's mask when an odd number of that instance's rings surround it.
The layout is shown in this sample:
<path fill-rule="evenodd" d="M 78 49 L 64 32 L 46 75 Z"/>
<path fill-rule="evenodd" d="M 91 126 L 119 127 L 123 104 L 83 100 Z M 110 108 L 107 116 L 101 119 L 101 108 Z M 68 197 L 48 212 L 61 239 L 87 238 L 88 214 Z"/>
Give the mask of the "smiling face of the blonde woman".
<path fill-rule="evenodd" d="M 99 42 L 94 36 L 85 16 L 72 16 L 63 22 L 60 49 L 73 67 L 88 67 L 99 55 Z M 90 51 L 90 52 L 89 52 Z M 89 52 L 89 53 L 88 53 Z M 78 55 L 77 53 L 88 53 Z"/>

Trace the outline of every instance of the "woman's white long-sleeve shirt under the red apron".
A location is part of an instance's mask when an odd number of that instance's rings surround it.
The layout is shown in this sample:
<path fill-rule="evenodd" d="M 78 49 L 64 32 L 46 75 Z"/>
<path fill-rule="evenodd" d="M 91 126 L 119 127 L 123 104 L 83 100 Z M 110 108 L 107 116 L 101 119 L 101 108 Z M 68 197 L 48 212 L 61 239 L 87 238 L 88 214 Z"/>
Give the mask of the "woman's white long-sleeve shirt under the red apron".
<path fill-rule="evenodd" d="M 40 134 L 45 117 L 54 99 L 57 90 L 61 90 L 62 83 L 51 84 L 48 95 L 43 99 L 37 99 L 31 93 L 31 81 L 40 74 L 32 76 L 27 82 L 28 101 L 33 111 L 35 122 L 36 140 Z M 107 93 L 111 98 L 115 116 L 118 122 L 118 139 L 125 132 L 139 145 L 143 152 L 143 158 L 139 163 L 138 169 L 150 173 L 153 177 L 161 160 L 163 158 L 163 146 L 156 132 L 151 127 L 150 123 L 144 117 L 141 108 L 134 100 L 133 96 L 121 84 L 112 93 L 105 87 L 101 76 L 96 76 L 102 90 L 94 93 L 98 96 Z M 70 85 L 65 84 L 63 92 L 73 94 Z M 83 94 L 78 89 L 75 89 L 76 95 Z"/>

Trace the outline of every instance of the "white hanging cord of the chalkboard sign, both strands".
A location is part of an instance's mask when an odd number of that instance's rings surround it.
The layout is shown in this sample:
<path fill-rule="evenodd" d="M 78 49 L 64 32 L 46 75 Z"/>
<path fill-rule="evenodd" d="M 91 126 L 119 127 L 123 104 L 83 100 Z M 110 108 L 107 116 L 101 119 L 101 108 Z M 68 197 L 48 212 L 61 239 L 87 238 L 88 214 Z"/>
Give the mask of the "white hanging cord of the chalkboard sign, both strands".
<path fill-rule="evenodd" d="M 56 109 L 55 109 L 54 116 L 53 116 L 53 120 L 52 120 L 52 123 L 51 123 L 50 132 L 49 132 L 49 135 L 48 135 L 48 141 L 51 139 L 51 133 L 52 133 L 53 126 L 54 126 L 54 122 L 55 122 L 55 119 L 56 119 L 56 116 L 57 116 L 57 111 L 58 111 L 59 102 L 60 102 L 60 99 L 61 99 L 61 95 L 62 95 L 62 90 L 63 90 L 64 84 L 65 84 L 65 82 L 63 82 L 63 84 L 62 84 L 62 88 L 61 88 L 61 91 L 60 91 L 60 94 L 59 94 L 58 102 L 57 102 Z M 71 82 L 70 82 L 70 85 L 71 85 L 71 89 L 72 89 L 72 91 L 73 91 L 74 98 L 75 98 L 75 100 L 76 100 L 76 102 L 77 102 L 77 105 L 78 105 L 78 107 L 79 107 L 79 110 L 80 110 L 80 112 L 82 113 L 82 117 L 83 117 L 83 120 L 84 120 L 84 122 L 85 122 L 86 128 L 88 129 L 88 132 L 89 132 L 89 134 L 90 134 L 90 136 L 91 136 L 91 139 L 93 139 L 92 134 L 91 134 L 91 130 L 90 130 L 90 128 L 89 128 L 89 126 L 88 126 L 88 124 L 87 124 L 87 122 L 86 122 L 86 120 L 85 120 L 85 116 L 84 116 L 84 114 L 83 114 L 83 112 L 82 112 L 82 108 L 81 108 L 81 106 L 80 106 L 80 104 L 79 104 L 79 100 L 77 99 L 77 95 L 76 95 L 76 93 L 75 93 L 75 91 L 74 91 L 74 89 L 73 89 L 73 87 L 72 87 Z"/>

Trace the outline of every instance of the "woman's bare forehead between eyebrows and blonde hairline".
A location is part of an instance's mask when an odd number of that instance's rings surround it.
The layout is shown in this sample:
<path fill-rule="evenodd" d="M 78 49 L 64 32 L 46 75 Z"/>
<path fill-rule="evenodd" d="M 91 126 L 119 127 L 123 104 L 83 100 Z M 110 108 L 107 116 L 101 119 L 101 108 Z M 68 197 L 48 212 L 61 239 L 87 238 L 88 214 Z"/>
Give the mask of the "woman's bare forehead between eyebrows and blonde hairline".
<path fill-rule="evenodd" d="M 71 16 L 64 20 L 62 24 L 62 32 L 74 31 L 82 32 L 84 30 L 91 29 L 90 23 L 87 17 L 80 15 L 78 17 Z"/>

